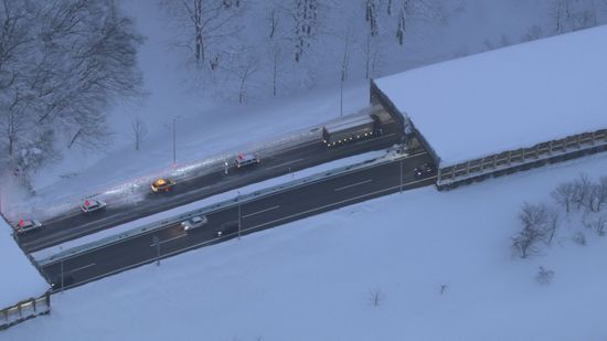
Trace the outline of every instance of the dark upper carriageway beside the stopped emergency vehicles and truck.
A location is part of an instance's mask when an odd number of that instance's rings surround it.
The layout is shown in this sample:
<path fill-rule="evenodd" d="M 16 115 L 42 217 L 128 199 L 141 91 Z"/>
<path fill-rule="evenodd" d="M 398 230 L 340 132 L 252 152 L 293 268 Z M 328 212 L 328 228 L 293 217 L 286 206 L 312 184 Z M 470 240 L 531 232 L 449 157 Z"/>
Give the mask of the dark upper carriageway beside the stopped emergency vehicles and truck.
<path fill-rule="evenodd" d="M 306 143 L 262 159 L 259 164 L 245 169 L 230 168 L 178 182 L 169 193 L 149 192 L 143 202 L 113 206 L 111 202 L 100 212 L 83 214 L 77 207 L 66 216 L 43 222 L 40 231 L 23 234 L 18 243 L 26 253 L 36 252 L 90 233 L 114 227 L 147 215 L 184 205 L 213 194 L 259 182 L 288 172 L 321 164 L 328 161 L 380 150 L 401 142 L 402 131 L 395 122 L 383 126 L 380 137 L 361 140 L 338 148 L 327 148 L 321 141 Z"/>

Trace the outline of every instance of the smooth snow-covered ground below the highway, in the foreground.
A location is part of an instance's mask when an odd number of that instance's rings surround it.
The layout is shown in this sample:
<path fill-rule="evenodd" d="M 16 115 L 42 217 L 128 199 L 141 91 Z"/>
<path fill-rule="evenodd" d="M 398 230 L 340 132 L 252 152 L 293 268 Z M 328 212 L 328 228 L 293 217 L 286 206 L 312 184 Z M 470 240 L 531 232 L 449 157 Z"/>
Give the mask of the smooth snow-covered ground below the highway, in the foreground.
<path fill-rule="evenodd" d="M 539 255 L 510 247 L 523 202 L 605 169 L 597 154 L 308 217 L 54 295 L 51 316 L 0 338 L 605 340 L 607 237 L 572 219 Z"/>

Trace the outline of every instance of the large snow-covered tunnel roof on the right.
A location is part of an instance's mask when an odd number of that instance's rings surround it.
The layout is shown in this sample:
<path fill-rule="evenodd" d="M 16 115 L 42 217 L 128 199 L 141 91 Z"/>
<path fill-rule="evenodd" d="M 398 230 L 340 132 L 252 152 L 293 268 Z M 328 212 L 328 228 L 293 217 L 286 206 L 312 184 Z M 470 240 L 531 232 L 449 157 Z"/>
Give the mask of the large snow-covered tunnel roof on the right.
<path fill-rule="evenodd" d="M 379 78 L 440 166 L 607 128 L 607 26 Z"/>

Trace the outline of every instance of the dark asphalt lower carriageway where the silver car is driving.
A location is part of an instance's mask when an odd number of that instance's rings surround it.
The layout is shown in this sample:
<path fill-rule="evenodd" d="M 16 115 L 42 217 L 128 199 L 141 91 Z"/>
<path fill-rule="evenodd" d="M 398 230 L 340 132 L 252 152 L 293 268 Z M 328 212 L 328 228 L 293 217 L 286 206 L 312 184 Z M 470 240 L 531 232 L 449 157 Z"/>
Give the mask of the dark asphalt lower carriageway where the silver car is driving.
<path fill-rule="evenodd" d="M 55 290 L 61 289 L 61 278 L 64 288 L 71 288 L 152 263 L 159 254 L 160 258 L 169 257 L 234 238 L 238 234 L 238 216 L 239 233 L 246 235 L 372 198 L 434 184 L 436 174 L 415 178 L 414 169 L 423 162 L 432 162 L 425 152 L 285 189 L 213 211 L 206 215 L 207 224 L 189 232 L 179 224 L 164 226 L 45 265 L 42 270 L 55 284 Z M 217 237 L 220 230 L 222 237 Z"/>

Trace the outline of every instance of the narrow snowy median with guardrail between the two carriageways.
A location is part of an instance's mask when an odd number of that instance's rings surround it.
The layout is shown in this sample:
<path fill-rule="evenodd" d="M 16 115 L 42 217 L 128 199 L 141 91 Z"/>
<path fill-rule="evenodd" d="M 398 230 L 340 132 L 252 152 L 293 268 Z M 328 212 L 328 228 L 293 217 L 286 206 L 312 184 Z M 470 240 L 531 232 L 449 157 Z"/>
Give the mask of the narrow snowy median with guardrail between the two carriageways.
<path fill-rule="evenodd" d="M 242 194 L 242 195 L 238 195 L 236 198 L 233 198 L 233 199 L 230 199 L 230 200 L 224 200 L 224 201 L 221 201 L 219 203 L 211 204 L 211 205 L 198 209 L 198 210 L 193 210 L 193 211 L 190 211 L 190 212 L 184 213 L 184 214 L 179 214 L 179 215 L 171 216 L 169 219 L 162 220 L 161 222 L 155 222 L 155 223 L 146 224 L 143 226 L 135 227 L 132 230 L 129 230 L 129 231 L 120 233 L 120 234 L 104 237 L 99 241 L 95 241 L 95 242 L 90 242 L 90 243 L 87 243 L 87 244 L 84 244 L 84 245 L 75 246 L 75 247 L 62 251 L 60 253 L 56 253 L 56 254 L 54 254 L 50 257 L 39 259 L 36 263 L 38 263 L 39 266 L 46 266 L 46 265 L 50 265 L 50 264 L 53 264 L 53 263 L 61 262 L 61 260 L 66 259 L 66 258 L 71 258 L 71 257 L 76 256 L 78 254 L 89 252 L 89 251 L 95 249 L 95 248 L 99 248 L 99 247 L 103 247 L 103 246 L 106 246 L 106 245 L 109 245 L 109 244 L 118 243 L 118 242 L 121 242 L 121 241 L 127 239 L 127 238 L 136 237 L 140 234 L 143 234 L 143 233 L 149 233 L 149 232 L 166 227 L 167 225 L 171 225 L 171 224 L 174 224 L 174 223 L 182 222 L 183 220 L 190 219 L 192 216 L 196 216 L 196 215 L 201 215 L 201 214 L 209 214 L 209 213 L 215 212 L 217 210 L 235 206 L 235 205 L 238 204 L 238 202 L 239 203 L 249 202 L 249 201 L 263 198 L 263 196 L 275 194 L 277 192 L 281 192 L 281 191 L 285 191 L 285 190 L 290 190 L 290 189 L 301 187 L 301 185 L 305 185 L 305 184 L 315 183 L 315 182 L 318 182 L 318 181 L 321 181 L 321 180 L 326 180 L 326 179 L 329 179 L 329 178 L 341 175 L 343 173 L 348 173 L 348 172 L 352 172 L 352 171 L 356 171 L 356 170 L 361 170 L 361 169 L 366 169 L 366 168 L 376 167 L 376 166 L 380 166 L 380 164 L 393 162 L 395 160 L 400 160 L 403 157 L 406 157 L 406 153 L 402 153 L 403 151 L 404 150 L 401 147 L 390 148 L 390 149 L 386 149 L 386 154 L 385 156 L 382 156 L 382 157 L 379 157 L 379 158 L 375 158 L 375 159 L 358 162 L 358 163 L 354 163 L 354 164 L 351 164 L 351 166 L 340 167 L 340 168 L 337 168 L 337 169 L 333 169 L 333 170 L 330 170 L 330 171 L 317 173 L 317 174 L 306 177 L 306 178 L 302 178 L 302 179 L 292 180 L 292 181 L 289 181 L 289 182 L 286 182 L 286 183 L 283 183 L 283 184 L 269 187 L 267 189 L 263 189 L 263 190 L 255 191 L 255 192 L 252 192 L 252 193 Z"/>

